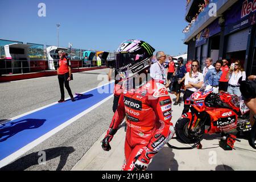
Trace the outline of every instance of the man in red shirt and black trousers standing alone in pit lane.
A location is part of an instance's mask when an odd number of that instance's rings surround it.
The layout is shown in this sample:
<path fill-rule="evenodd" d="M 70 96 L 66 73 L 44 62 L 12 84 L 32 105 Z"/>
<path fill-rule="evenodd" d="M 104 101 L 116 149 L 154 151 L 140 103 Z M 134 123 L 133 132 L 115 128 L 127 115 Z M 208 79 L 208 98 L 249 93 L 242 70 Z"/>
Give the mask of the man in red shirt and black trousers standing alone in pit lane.
<path fill-rule="evenodd" d="M 65 102 L 64 84 L 65 84 L 65 88 L 68 90 L 69 96 L 71 97 L 71 101 L 74 102 L 75 98 L 73 97 L 73 94 L 69 87 L 69 81 L 71 81 L 71 61 L 67 60 L 66 54 L 63 50 L 59 51 L 58 53 L 59 53 L 60 59 L 57 65 L 57 75 L 58 75 L 58 80 L 60 85 L 60 94 L 61 94 L 61 98 L 58 102 L 59 103 Z"/>

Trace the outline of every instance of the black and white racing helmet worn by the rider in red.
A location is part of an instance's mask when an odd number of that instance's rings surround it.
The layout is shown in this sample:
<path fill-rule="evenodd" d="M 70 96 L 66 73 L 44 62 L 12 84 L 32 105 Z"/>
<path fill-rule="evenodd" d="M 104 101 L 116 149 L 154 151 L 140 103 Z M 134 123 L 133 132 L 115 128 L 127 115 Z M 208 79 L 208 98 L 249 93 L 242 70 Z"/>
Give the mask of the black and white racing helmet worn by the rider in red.
<path fill-rule="evenodd" d="M 150 67 L 155 49 L 141 40 L 126 40 L 117 49 L 116 69 L 128 78 Z"/>

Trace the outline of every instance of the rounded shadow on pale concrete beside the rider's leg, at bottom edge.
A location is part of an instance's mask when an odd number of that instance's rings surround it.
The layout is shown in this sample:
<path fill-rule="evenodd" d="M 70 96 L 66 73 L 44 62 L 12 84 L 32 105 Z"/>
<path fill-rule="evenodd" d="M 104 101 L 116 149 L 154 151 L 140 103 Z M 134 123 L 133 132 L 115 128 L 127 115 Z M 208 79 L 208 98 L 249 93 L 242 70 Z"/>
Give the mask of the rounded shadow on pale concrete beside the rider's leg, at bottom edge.
<path fill-rule="evenodd" d="M 174 156 L 175 154 L 171 148 L 163 147 L 154 156 L 152 162 L 148 165 L 147 171 L 178 171 L 179 164 Z"/>

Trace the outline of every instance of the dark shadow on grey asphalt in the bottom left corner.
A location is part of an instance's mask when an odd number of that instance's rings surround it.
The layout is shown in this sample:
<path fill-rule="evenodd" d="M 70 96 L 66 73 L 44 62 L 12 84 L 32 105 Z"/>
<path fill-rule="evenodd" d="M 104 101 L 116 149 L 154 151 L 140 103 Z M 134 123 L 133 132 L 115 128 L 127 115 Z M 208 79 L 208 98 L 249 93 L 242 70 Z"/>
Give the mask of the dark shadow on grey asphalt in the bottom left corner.
<path fill-rule="evenodd" d="M 42 152 L 45 152 L 46 154 L 46 163 L 48 160 L 55 159 L 60 156 L 60 162 L 57 166 L 56 171 L 61 171 L 61 169 L 63 169 L 63 167 L 67 163 L 69 154 L 71 154 L 74 151 L 75 149 L 73 147 L 56 147 L 49 148 L 44 151 L 34 152 L 26 156 L 23 156 L 18 160 L 15 160 L 15 162 L 8 164 L 5 167 L 2 167 L 0 171 L 24 171 L 31 166 L 39 165 L 40 162 L 43 162 Z"/>

